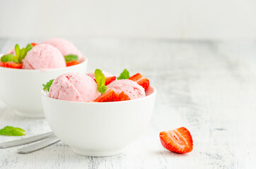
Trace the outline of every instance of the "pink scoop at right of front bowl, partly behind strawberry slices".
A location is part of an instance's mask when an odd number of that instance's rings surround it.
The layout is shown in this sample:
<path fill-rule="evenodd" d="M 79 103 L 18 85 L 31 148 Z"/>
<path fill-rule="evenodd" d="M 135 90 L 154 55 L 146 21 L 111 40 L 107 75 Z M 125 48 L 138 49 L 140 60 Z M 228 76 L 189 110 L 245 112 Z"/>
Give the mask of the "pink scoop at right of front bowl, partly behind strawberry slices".
<path fill-rule="evenodd" d="M 107 85 L 108 89 L 114 89 L 117 94 L 124 91 L 130 99 L 138 99 L 146 96 L 145 89 L 132 80 L 115 80 Z"/>

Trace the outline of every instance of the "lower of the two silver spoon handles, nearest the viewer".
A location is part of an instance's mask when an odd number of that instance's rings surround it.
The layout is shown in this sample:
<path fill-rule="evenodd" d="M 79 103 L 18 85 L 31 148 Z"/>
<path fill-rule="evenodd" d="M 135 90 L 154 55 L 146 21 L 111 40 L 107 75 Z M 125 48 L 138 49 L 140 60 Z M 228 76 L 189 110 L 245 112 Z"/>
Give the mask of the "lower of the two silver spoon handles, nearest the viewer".
<path fill-rule="evenodd" d="M 35 143 L 33 145 L 30 145 L 30 146 L 25 146 L 22 149 L 18 149 L 17 153 L 18 154 L 29 154 L 29 153 L 32 153 L 34 151 L 44 149 L 47 146 L 51 146 L 52 144 L 57 143 L 57 142 L 59 142 L 59 138 L 56 137 L 56 136 L 52 136 L 48 139 L 45 139 L 42 142 L 38 142 L 38 143 Z"/>

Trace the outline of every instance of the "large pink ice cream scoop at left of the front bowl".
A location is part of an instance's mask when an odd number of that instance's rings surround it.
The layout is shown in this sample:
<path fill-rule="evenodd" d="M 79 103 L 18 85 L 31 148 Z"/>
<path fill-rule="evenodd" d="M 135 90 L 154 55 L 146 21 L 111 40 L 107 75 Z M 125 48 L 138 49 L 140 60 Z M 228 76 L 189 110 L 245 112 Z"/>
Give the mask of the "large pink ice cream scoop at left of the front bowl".
<path fill-rule="evenodd" d="M 66 73 L 53 81 L 49 96 L 65 101 L 94 101 L 100 96 L 97 87 L 95 81 L 88 75 Z"/>

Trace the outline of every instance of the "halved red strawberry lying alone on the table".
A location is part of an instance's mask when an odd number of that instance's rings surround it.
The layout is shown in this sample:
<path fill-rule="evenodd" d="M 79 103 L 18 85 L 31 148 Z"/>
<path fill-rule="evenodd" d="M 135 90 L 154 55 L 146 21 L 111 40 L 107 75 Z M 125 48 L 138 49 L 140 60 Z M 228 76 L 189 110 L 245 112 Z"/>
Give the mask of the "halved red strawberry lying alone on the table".
<path fill-rule="evenodd" d="M 190 131 L 185 127 L 160 132 L 161 144 L 165 149 L 175 153 L 188 153 L 193 149 L 193 140 Z"/>

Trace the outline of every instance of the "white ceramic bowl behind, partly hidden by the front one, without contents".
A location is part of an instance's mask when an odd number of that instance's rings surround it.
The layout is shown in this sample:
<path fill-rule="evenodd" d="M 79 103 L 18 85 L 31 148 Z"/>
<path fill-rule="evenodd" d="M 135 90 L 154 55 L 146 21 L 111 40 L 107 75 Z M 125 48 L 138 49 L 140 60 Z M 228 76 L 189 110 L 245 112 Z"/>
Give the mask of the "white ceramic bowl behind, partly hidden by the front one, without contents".
<path fill-rule="evenodd" d="M 25 70 L 0 67 L 0 100 L 14 109 L 17 115 L 42 118 L 40 91 L 42 84 L 63 73 L 86 73 L 88 59 L 78 65 L 48 70 Z"/>

